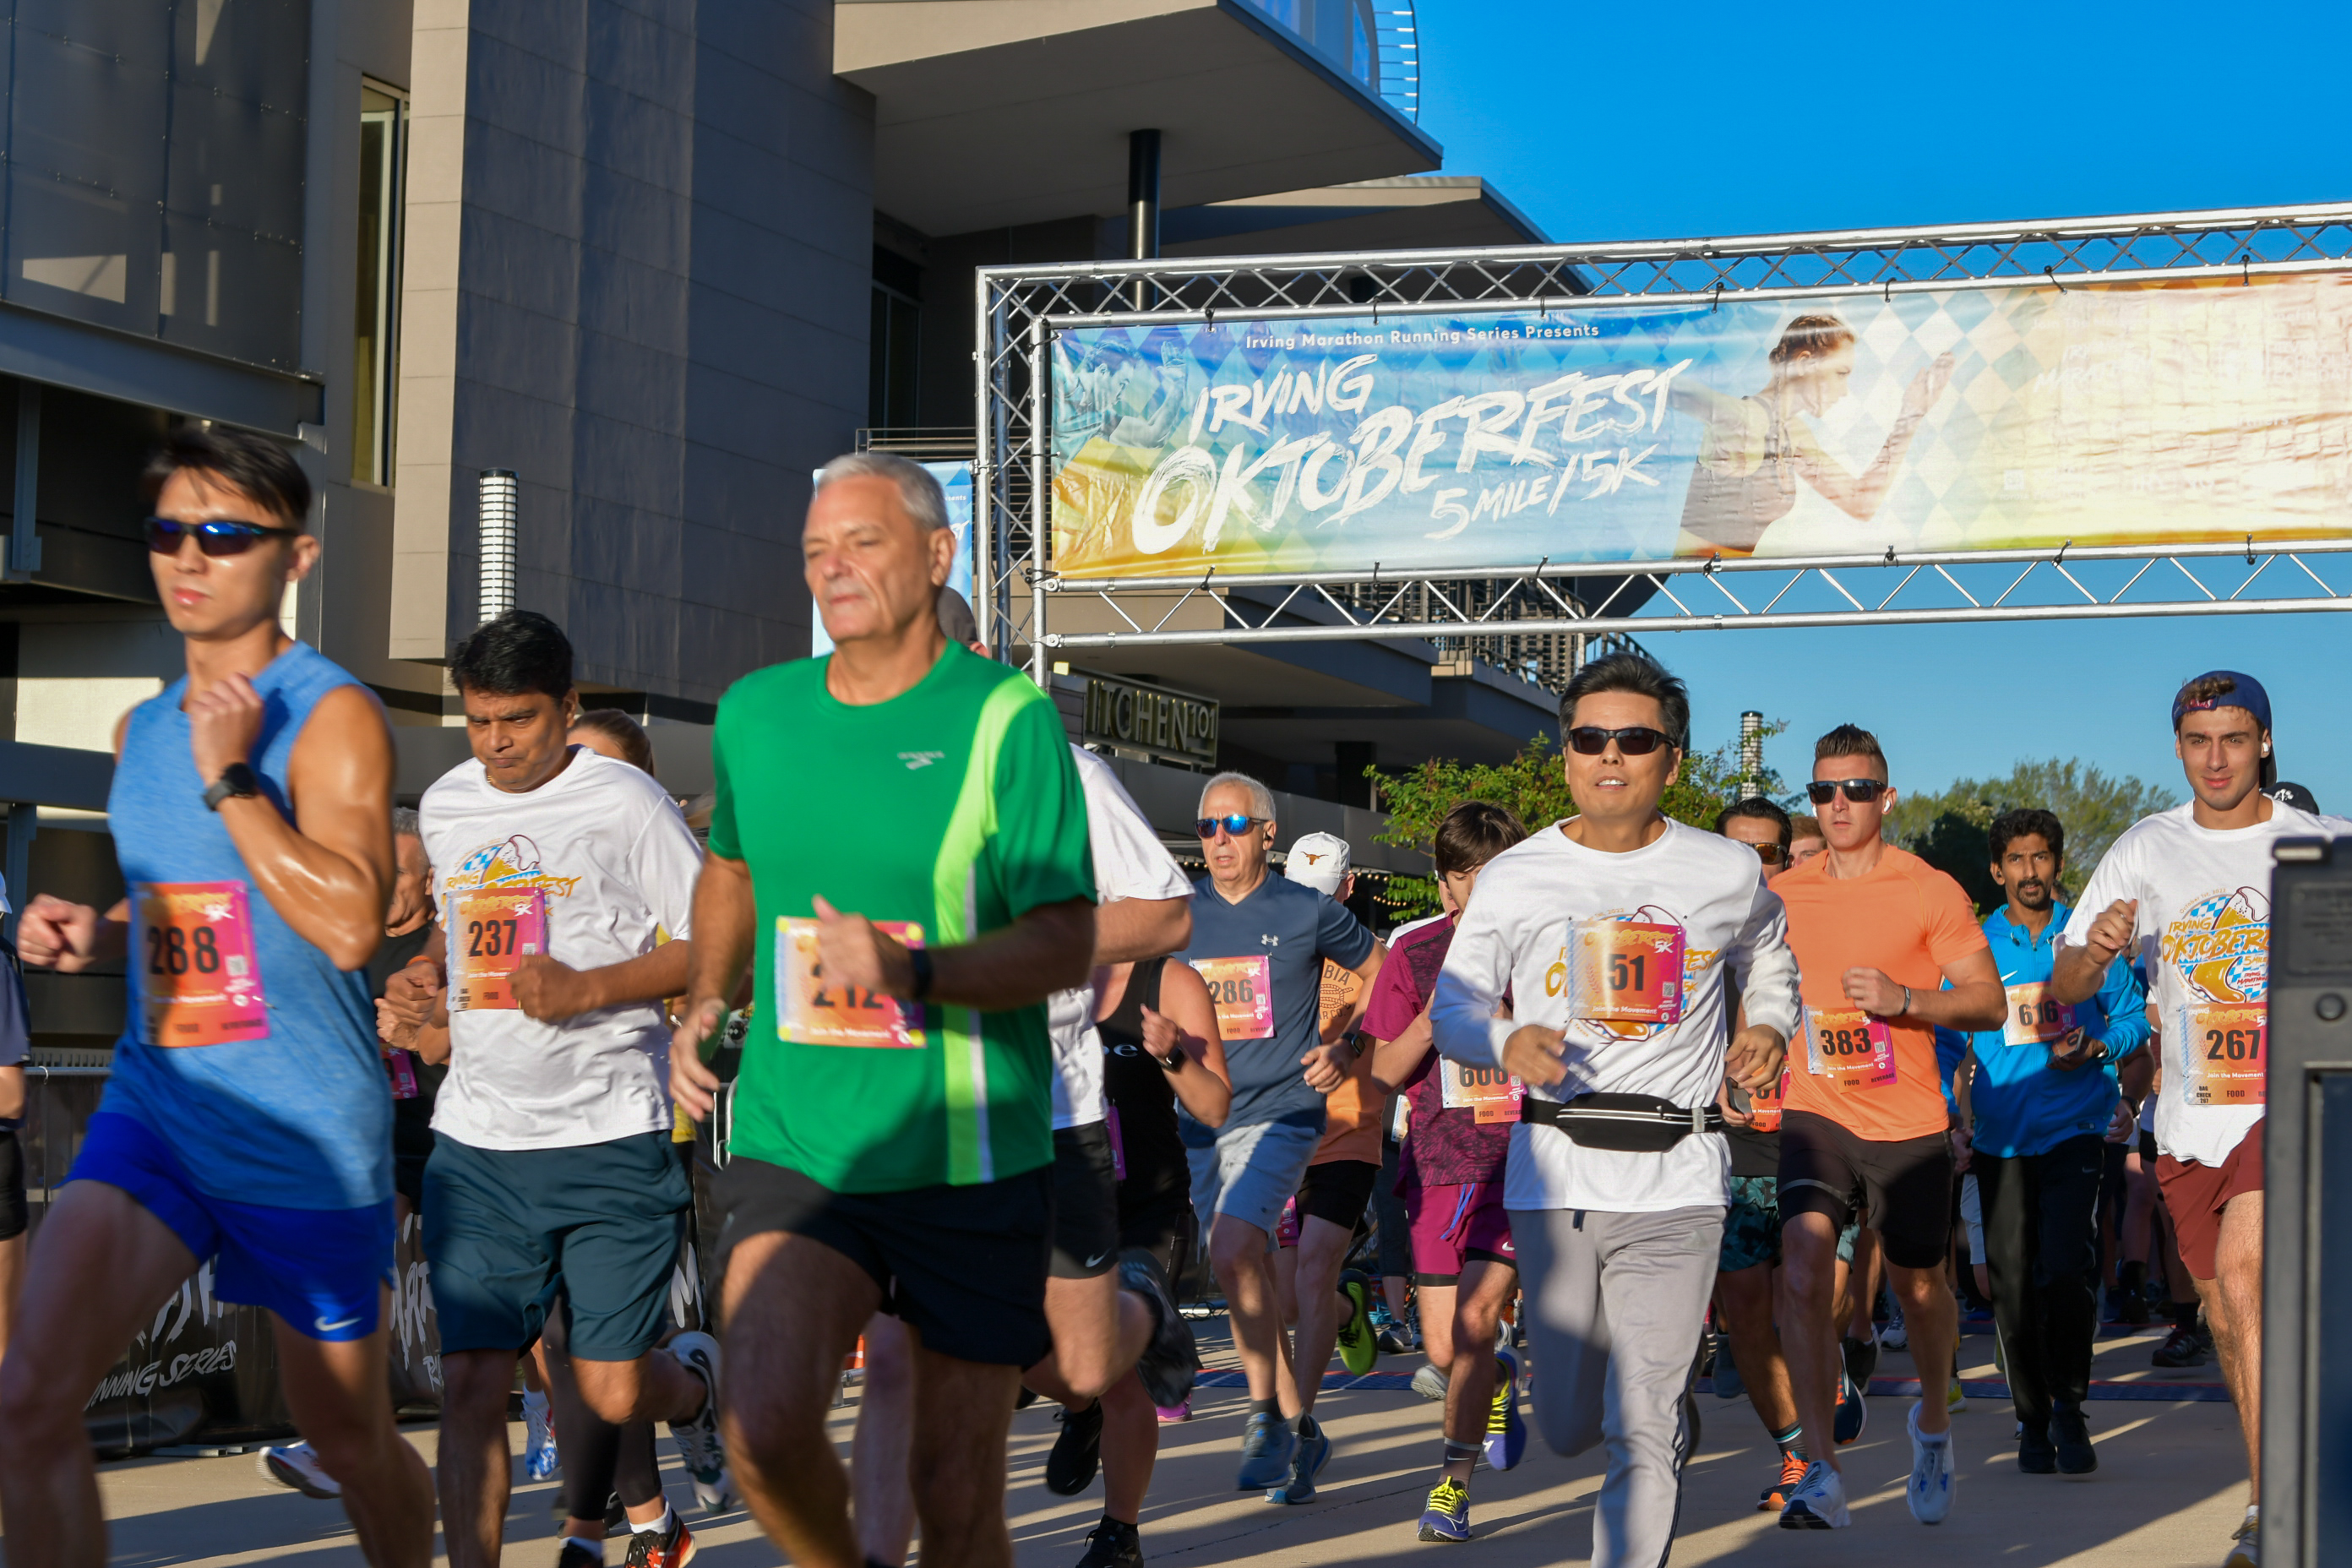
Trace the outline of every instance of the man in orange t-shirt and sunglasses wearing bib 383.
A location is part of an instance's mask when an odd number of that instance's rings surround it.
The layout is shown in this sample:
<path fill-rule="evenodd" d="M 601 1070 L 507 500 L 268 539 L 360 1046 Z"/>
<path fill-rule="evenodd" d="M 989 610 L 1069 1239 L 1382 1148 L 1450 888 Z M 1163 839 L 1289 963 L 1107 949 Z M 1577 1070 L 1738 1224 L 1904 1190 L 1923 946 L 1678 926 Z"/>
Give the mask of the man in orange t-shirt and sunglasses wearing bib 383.
<path fill-rule="evenodd" d="M 1952 1509 L 1945 1392 L 1959 1309 L 1943 1265 L 1952 1241 L 1952 1114 L 1936 1067 L 1936 1027 L 1997 1030 L 2002 976 L 1959 884 L 1882 835 L 1896 802 L 1886 752 L 1839 724 L 1813 748 L 1806 799 L 1828 851 L 1773 882 L 1804 969 L 1804 1039 L 1780 1117 L 1780 1345 L 1806 1432 L 1832 1432 L 1844 1363 L 1837 1345 L 1837 1234 L 1867 1199 L 1886 1272 L 1910 1326 L 1919 1406 L 1910 1413 L 1919 1523 Z M 1790 1530 L 1846 1526 L 1837 1448 L 1780 1509 Z"/>

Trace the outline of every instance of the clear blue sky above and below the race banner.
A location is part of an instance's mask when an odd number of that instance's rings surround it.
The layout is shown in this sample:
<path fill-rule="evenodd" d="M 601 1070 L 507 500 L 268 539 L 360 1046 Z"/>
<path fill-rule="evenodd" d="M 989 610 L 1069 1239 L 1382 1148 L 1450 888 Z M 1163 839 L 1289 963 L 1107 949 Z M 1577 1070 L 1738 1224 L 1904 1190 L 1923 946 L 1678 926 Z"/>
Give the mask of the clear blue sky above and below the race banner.
<path fill-rule="evenodd" d="M 2281 59 L 2352 54 L 2352 5 L 2249 24 L 2211 7 L 1585 7 L 1418 0 L 1421 125 L 1552 240 L 1795 233 L 2352 200 L 2343 92 Z M 1646 63 L 1644 63 L 1646 61 Z M 2321 567 L 2338 588 L 2352 564 Z M 2232 583 L 2216 569 L 2213 583 Z M 2227 592 L 2227 588 L 2223 588 Z M 1795 604 L 1790 604 L 1795 609 Z M 2352 811 L 2352 616 L 2194 616 L 1642 639 L 1691 684 L 1693 741 L 1743 708 L 1766 759 L 1875 729 L 1938 790 L 2082 757 L 2183 795 L 2169 698 L 2239 668 L 2270 689 L 2281 776 Z"/>

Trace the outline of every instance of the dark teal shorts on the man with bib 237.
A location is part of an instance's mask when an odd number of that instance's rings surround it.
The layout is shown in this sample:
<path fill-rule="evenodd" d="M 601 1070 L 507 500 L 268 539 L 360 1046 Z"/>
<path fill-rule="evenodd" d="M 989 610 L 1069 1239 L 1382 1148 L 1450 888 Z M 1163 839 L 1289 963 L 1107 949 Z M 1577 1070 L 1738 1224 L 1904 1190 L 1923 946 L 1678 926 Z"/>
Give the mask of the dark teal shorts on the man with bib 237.
<path fill-rule="evenodd" d="M 442 1352 L 529 1347 L 557 1293 L 576 1359 L 654 1349 L 694 1208 L 668 1133 L 569 1150 L 477 1150 L 442 1133 L 423 1199 Z"/>

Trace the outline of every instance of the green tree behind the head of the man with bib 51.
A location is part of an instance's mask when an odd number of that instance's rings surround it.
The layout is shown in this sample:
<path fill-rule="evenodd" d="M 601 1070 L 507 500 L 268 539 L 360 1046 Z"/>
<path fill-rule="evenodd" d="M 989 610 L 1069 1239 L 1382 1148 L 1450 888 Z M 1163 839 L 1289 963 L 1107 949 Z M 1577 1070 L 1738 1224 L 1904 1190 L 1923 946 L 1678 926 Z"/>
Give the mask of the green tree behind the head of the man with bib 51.
<path fill-rule="evenodd" d="M 1764 733 L 1778 733 L 1778 724 Z M 1715 816 L 1748 795 L 1771 795 L 1780 780 L 1766 773 L 1759 780 L 1740 778 L 1738 741 L 1712 752 L 1693 752 L 1682 759 L 1682 773 L 1668 785 L 1658 809 L 1677 823 L 1712 827 Z M 1446 811 L 1465 799 L 1484 799 L 1508 806 L 1534 832 L 1564 816 L 1576 816 L 1569 797 L 1569 778 L 1559 766 L 1559 752 L 1550 736 L 1536 736 L 1510 762 L 1444 762 L 1430 759 L 1406 773 L 1381 773 L 1371 769 L 1381 790 L 1381 806 L 1388 811 L 1388 827 L 1381 844 L 1399 844 L 1430 853 L 1437 823 Z M 1381 903 L 1404 919 L 1437 914 L 1437 882 L 1430 877 L 1392 877 L 1381 893 Z"/>

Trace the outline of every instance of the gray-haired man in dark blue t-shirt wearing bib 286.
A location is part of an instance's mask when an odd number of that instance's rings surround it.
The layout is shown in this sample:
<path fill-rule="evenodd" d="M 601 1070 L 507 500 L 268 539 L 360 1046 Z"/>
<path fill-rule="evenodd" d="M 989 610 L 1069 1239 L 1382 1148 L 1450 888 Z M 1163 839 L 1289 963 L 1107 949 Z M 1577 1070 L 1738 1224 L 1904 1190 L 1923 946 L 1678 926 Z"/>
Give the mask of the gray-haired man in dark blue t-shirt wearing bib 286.
<path fill-rule="evenodd" d="M 1249 773 L 1218 773 L 1200 792 L 1202 858 L 1192 884 L 1192 943 L 1176 957 L 1209 983 L 1232 1112 L 1211 1133 L 1183 1119 L 1192 1161 L 1192 1208 L 1209 1225 L 1209 1260 L 1225 1288 L 1232 1342 L 1249 1375 L 1249 1429 L 1235 1490 L 1268 1502 L 1305 1502 L 1331 1458 L 1298 1389 L 1319 1366 L 1289 1366 L 1268 1253 L 1282 1206 L 1324 1135 L 1324 1095 L 1348 1079 L 1345 1041 L 1322 1039 L 1322 966 L 1331 959 L 1369 985 L 1381 945 L 1334 898 L 1289 877 L 1268 877 L 1275 797 Z M 1296 1422 L 1296 1427 L 1294 1427 Z"/>

